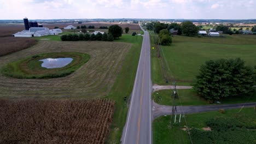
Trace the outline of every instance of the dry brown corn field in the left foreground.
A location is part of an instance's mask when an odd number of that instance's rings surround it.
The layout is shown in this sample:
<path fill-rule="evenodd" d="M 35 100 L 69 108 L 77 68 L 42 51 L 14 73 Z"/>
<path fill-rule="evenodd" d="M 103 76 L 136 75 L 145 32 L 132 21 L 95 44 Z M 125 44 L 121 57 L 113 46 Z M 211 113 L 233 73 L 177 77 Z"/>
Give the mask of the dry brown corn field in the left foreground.
<path fill-rule="evenodd" d="M 104 143 L 108 100 L 0 100 L 0 143 Z"/>

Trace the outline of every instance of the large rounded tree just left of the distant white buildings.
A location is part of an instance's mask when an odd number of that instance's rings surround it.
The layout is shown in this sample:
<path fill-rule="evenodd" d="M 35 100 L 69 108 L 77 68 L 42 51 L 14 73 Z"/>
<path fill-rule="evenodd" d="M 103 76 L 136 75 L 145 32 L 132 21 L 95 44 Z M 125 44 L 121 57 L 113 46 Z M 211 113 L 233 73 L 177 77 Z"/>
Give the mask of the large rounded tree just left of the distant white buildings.
<path fill-rule="evenodd" d="M 199 30 L 191 21 L 182 22 L 181 29 L 182 34 L 187 36 L 196 35 Z"/>

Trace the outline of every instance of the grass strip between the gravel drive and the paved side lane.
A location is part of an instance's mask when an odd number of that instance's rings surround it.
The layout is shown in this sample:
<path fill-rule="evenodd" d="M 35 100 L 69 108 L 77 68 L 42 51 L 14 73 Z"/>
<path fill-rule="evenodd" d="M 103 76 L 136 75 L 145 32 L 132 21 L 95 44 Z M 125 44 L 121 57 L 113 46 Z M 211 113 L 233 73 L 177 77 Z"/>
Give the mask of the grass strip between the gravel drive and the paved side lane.
<path fill-rule="evenodd" d="M 194 89 L 178 89 L 178 95 L 182 102 L 182 105 L 211 105 L 207 103 L 207 100 L 201 98 Z M 172 105 L 172 93 L 173 90 L 162 90 L 152 94 L 152 98 L 155 103 L 160 105 Z M 256 92 L 248 95 L 240 95 L 239 97 L 230 97 L 219 100 L 221 104 L 239 104 L 250 103 L 256 101 Z M 175 99 L 174 105 L 181 105 L 179 99 Z"/>

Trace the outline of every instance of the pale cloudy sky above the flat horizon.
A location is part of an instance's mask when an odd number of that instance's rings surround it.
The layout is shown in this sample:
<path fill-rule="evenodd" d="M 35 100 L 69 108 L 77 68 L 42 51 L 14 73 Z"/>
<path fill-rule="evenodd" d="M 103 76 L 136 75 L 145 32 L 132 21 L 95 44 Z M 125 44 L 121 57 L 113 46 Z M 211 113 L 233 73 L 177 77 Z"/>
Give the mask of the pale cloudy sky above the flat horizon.
<path fill-rule="evenodd" d="M 256 19 L 256 0 L 0 0 L 1 20 Z"/>

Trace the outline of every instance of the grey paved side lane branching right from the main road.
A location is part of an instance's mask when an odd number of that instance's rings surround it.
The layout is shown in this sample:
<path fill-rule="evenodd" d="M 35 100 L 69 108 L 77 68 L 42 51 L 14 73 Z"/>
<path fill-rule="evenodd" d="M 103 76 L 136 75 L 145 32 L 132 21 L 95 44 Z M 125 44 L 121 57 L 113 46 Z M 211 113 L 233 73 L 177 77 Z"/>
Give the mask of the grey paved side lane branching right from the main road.
<path fill-rule="evenodd" d="M 199 105 L 199 106 L 177 106 L 177 114 L 218 111 L 219 109 L 237 109 L 241 107 L 254 107 L 256 103 L 243 103 L 243 104 L 229 104 L 229 105 Z M 162 115 L 170 115 L 172 113 L 172 106 L 159 105 L 153 101 L 153 115 L 154 118 Z"/>

